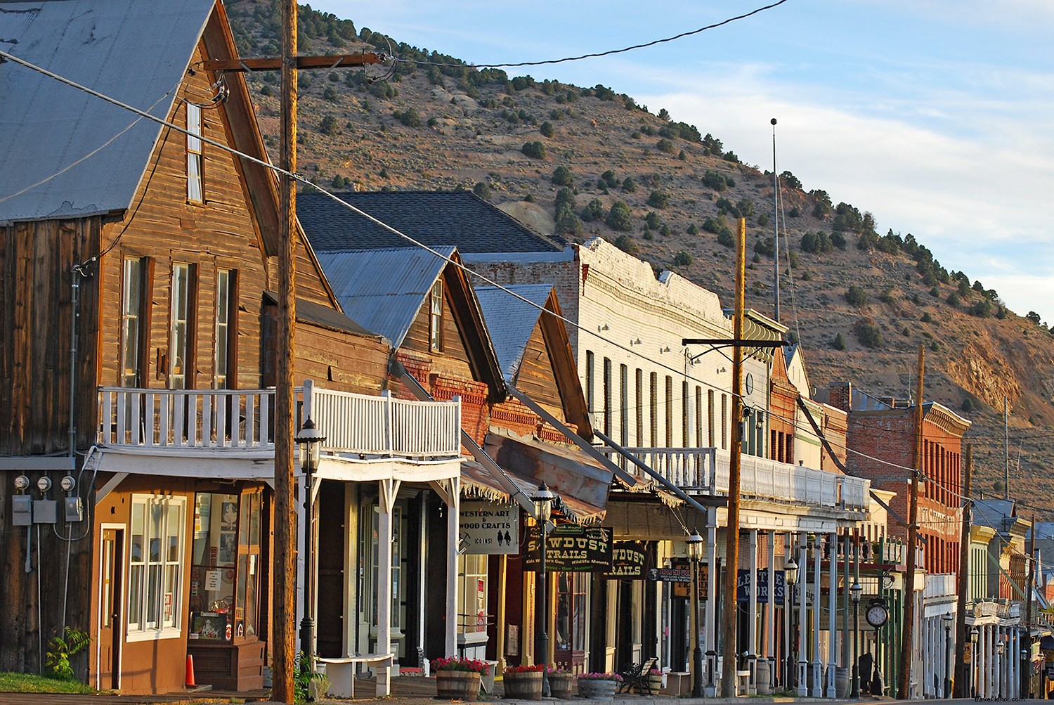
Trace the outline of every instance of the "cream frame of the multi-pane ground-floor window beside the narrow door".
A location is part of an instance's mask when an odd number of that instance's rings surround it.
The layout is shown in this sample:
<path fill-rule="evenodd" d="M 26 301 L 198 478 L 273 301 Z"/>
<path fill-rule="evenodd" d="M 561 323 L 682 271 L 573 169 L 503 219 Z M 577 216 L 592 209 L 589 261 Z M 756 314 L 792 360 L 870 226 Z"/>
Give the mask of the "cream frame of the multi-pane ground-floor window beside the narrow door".
<path fill-rule="evenodd" d="M 160 525 L 155 527 L 151 521 L 151 510 L 157 508 L 160 511 Z M 175 525 L 176 533 L 171 532 L 173 522 L 172 510 L 176 510 Z M 136 533 L 136 513 L 140 513 L 142 524 L 141 533 Z M 157 536 L 153 535 L 152 527 L 159 530 Z M 126 565 L 128 584 L 125 594 L 128 610 L 124 614 L 124 637 L 129 642 L 158 641 L 162 639 L 178 639 L 182 635 L 183 620 L 183 579 L 187 573 L 187 497 L 184 496 L 162 496 L 158 494 L 133 494 L 131 498 L 131 515 L 129 517 L 129 554 Z M 139 546 L 140 559 L 135 560 L 135 546 L 137 536 L 141 536 Z M 175 538 L 175 545 L 170 542 Z M 154 561 L 150 556 L 151 544 L 157 541 L 159 547 L 159 560 Z M 168 544 L 169 550 L 164 551 Z M 173 548 L 175 549 L 175 560 L 172 559 Z M 139 579 L 136 577 L 138 570 Z M 156 583 L 153 582 L 151 573 L 157 570 Z M 136 587 L 136 582 L 139 586 Z M 153 589 L 157 594 L 151 595 Z M 169 588 L 169 589 L 167 589 Z M 164 618 L 164 595 L 171 595 L 170 615 Z M 151 602 L 154 602 L 153 606 Z M 138 606 L 138 609 L 136 607 Z M 153 623 L 148 620 L 150 610 L 156 610 L 156 619 Z M 139 615 L 138 622 L 132 622 L 133 611 Z"/>

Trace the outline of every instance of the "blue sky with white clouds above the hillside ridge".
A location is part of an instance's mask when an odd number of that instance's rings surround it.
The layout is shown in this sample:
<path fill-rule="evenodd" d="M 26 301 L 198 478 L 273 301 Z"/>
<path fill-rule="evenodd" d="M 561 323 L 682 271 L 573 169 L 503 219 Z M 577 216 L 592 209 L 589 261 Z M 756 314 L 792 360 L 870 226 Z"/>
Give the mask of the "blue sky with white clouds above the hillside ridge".
<path fill-rule="evenodd" d="M 473 64 L 605 52 L 774 0 L 321 0 L 356 28 Z M 509 67 L 602 83 L 912 233 L 1054 325 L 1054 2 L 786 0 L 657 46 Z"/>

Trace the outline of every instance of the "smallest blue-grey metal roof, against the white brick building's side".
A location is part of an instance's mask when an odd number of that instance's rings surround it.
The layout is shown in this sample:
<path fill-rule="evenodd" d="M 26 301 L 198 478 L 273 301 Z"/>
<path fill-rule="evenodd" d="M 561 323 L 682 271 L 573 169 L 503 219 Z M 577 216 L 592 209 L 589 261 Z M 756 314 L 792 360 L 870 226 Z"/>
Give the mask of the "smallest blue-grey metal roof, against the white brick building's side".
<path fill-rule="evenodd" d="M 527 283 L 508 289 L 542 307 L 552 292 L 552 285 Z M 524 351 L 542 311 L 497 287 L 476 287 L 475 297 L 480 300 L 487 330 L 490 331 L 502 374 L 506 381 L 511 383 L 520 371 Z"/>

